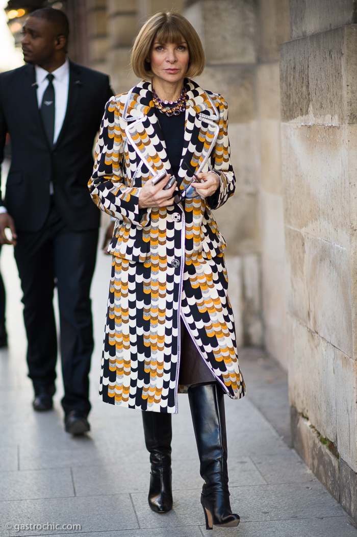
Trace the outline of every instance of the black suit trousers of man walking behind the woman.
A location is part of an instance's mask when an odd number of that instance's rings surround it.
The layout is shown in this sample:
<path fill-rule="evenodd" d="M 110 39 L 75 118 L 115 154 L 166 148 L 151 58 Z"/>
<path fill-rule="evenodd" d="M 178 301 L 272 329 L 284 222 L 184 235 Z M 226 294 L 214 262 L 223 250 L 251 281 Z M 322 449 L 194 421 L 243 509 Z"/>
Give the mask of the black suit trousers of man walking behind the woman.
<path fill-rule="evenodd" d="M 23 291 L 28 376 L 35 393 L 52 389 L 56 378 L 57 331 L 53 308 L 57 287 L 64 412 L 88 414 L 93 351 L 90 286 L 96 264 L 98 230 L 68 228 L 52 202 L 45 225 L 18 231 L 14 248 Z"/>

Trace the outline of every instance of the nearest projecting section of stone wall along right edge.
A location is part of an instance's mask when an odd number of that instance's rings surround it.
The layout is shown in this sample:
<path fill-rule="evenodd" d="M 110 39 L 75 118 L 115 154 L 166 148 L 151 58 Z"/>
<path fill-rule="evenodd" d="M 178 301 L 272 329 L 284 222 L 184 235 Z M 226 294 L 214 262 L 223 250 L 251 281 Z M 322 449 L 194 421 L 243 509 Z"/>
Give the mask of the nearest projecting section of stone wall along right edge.
<path fill-rule="evenodd" d="M 357 519 L 354 10 L 352 0 L 290 1 L 280 88 L 293 438 Z"/>

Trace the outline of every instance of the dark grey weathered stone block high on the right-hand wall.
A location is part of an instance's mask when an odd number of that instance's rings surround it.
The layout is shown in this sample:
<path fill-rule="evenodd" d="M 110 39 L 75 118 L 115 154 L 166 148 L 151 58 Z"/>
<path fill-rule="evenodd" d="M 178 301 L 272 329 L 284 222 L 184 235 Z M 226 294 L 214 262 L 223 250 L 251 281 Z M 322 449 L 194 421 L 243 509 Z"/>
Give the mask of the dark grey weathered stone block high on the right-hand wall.
<path fill-rule="evenodd" d="M 290 41 L 280 51 L 283 121 L 334 125 L 356 121 L 355 26 Z"/>

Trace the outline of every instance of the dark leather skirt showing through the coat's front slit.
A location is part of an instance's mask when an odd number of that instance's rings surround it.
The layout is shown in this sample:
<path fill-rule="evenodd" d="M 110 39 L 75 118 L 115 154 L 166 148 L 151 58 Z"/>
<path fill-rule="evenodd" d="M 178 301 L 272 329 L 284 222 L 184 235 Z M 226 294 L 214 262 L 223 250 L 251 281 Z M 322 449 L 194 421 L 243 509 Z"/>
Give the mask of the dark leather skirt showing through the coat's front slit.
<path fill-rule="evenodd" d="M 196 345 L 193 343 L 186 326 L 181 322 L 181 355 L 179 384 L 190 386 L 190 384 L 201 384 L 214 382 L 216 379 L 210 372 L 205 360 L 198 352 Z"/>

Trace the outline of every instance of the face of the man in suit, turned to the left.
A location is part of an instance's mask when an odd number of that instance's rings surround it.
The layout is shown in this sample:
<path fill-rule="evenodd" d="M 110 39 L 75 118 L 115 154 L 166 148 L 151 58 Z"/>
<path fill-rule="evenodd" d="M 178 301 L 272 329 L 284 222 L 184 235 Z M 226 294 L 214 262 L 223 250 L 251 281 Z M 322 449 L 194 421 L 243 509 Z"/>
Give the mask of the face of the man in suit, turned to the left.
<path fill-rule="evenodd" d="M 51 61 L 55 54 L 57 36 L 53 24 L 46 19 L 28 17 L 23 28 L 21 45 L 24 60 L 42 66 Z"/>

